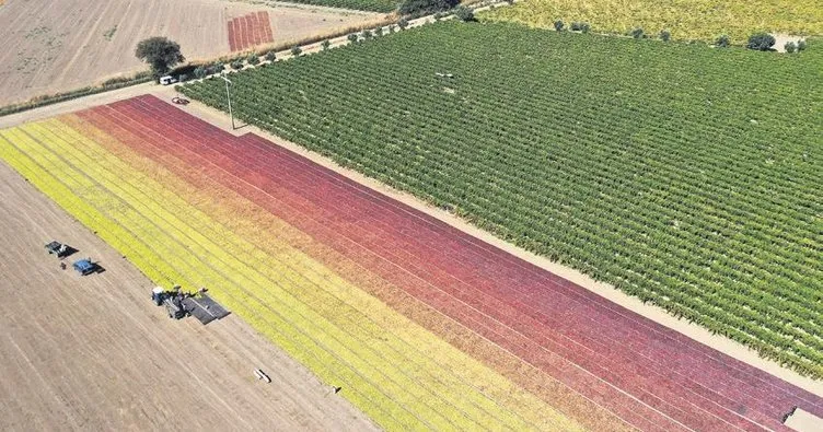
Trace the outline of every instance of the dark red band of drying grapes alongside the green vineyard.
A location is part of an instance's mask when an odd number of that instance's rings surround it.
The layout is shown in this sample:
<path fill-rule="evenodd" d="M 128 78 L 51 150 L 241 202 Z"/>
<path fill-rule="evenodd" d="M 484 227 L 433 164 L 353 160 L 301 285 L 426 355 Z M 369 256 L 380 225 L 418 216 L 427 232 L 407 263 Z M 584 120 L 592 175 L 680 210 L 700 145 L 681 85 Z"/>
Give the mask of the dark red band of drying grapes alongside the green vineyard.
<path fill-rule="evenodd" d="M 356 189 L 350 183 L 334 176 L 329 178 L 328 173 L 323 174 L 322 170 L 301 163 L 298 157 L 288 156 L 262 140 L 248 138 L 244 143 L 218 143 L 204 136 L 187 144 L 185 133 L 179 132 L 187 127 L 178 125 L 190 121 L 184 121 L 185 115 L 154 101 L 144 100 L 140 109 L 126 114 L 139 118 L 140 112 L 146 110 L 147 119 L 176 120 L 153 126 L 170 139 L 170 147 L 160 153 L 175 153 L 179 151 L 175 145 L 183 145 L 200 153 L 202 160 L 220 161 L 219 166 L 251 186 L 232 187 L 259 206 L 359 260 L 363 267 L 376 269 L 381 277 L 409 294 L 596 399 L 641 429 L 653 429 L 656 423 L 661 427 L 669 418 L 689 428 L 722 428 L 725 421 L 745 429 L 754 428 L 752 421 L 779 428 L 783 413 L 791 404 L 799 404 L 796 398 L 800 394 L 792 393 L 797 389 L 781 387 L 779 381 L 757 376 L 751 369 L 741 372 L 718 364 L 718 353 L 700 354 L 700 348 L 694 347 L 694 342 L 660 348 L 673 341 L 666 335 L 663 343 L 656 342 L 663 335 L 648 332 L 663 331 L 649 323 L 640 319 L 637 324 L 626 323 L 625 318 L 613 314 L 603 316 L 599 307 L 587 307 L 588 301 L 575 300 L 580 296 L 575 291 L 564 301 L 556 292 L 563 289 L 556 278 L 548 285 L 530 281 L 521 271 L 496 264 L 497 257 L 490 258 L 451 241 L 459 235 L 453 230 L 432 236 L 426 226 L 409 221 L 404 211 L 385 206 L 374 208 L 375 201 L 380 202 L 379 196 L 366 194 L 368 197 L 363 197 L 362 190 L 353 192 Z M 206 166 L 201 166 L 204 168 Z M 266 175 L 262 177 L 260 173 Z M 374 255 L 393 265 L 374 261 Z M 417 278 L 401 277 L 403 273 L 398 273 L 396 267 Z M 550 301 L 544 296 L 549 292 Z M 576 314 L 569 315 L 568 311 Z M 637 330 L 633 331 L 633 327 Z M 627 341 L 629 349 L 623 348 Z M 672 364 L 677 365 L 677 373 L 658 372 Z M 588 373 L 569 370 L 570 365 Z M 614 392 L 606 383 L 641 402 Z M 814 397 L 800 397 L 803 405 L 811 404 L 810 409 L 818 409 Z M 683 404 L 686 400 L 689 404 Z M 738 404 L 749 407 L 747 419 L 734 412 Z M 718 408 L 723 406 L 726 408 Z M 665 417 L 660 418 L 649 407 Z M 649 422 L 649 419 L 656 420 Z M 676 427 L 668 423 L 664 429 Z"/>

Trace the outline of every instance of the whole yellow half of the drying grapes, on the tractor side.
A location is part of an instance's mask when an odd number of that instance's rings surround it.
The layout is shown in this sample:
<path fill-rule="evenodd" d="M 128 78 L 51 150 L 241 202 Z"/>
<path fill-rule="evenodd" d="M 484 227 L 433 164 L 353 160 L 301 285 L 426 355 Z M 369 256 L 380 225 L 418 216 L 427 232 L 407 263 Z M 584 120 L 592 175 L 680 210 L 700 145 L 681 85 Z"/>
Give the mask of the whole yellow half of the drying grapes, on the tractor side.
<path fill-rule="evenodd" d="M 124 141 L 128 133 L 116 124 L 128 122 L 127 115 L 114 114 L 109 124 Z M 2 136 L 3 159 L 72 214 L 96 212 L 96 220 L 79 219 L 157 283 L 212 288 L 221 302 L 321 378 L 341 385 L 344 395 L 380 424 L 576 428 L 288 244 L 269 240 L 263 248 L 246 240 L 259 237 L 258 230 L 247 227 L 244 237 L 217 223 L 194 206 L 215 196 L 184 199 L 178 192 L 193 192 L 185 183 L 79 118 L 26 125 Z M 131 138 L 131 145 L 151 148 L 150 141 Z M 118 230 L 128 234 L 108 234 Z"/>

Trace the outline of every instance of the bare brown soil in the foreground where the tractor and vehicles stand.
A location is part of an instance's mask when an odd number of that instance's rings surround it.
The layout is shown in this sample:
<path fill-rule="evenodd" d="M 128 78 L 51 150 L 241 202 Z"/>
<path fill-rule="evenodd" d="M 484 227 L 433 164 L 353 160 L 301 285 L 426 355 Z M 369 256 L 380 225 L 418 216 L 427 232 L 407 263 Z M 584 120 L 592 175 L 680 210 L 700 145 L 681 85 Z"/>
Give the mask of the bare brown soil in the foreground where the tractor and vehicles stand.
<path fill-rule="evenodd" d="M 0 197 L 0 430 L 374 429 L 239 318 L 169 319 L 137 269 L 4 164 Z M 51 238 L 106 271 L 61 270 Z"/>

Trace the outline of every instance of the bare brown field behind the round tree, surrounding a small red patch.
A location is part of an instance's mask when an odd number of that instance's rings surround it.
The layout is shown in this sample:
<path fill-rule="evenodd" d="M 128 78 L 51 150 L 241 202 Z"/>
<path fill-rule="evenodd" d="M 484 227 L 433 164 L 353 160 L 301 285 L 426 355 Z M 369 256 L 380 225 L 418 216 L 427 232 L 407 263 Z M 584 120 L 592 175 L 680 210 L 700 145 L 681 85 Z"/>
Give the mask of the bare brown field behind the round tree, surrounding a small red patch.
<path fill-rule="evenodd" d="M 378 14 L 222 0 L 10 0 L 0 7 L 0 105 L 146 69 L 135 47 L 150 36 L 187 59 L 231 52 L 228 22 L 266 11 L 275 44 L 373 20 Z"/>

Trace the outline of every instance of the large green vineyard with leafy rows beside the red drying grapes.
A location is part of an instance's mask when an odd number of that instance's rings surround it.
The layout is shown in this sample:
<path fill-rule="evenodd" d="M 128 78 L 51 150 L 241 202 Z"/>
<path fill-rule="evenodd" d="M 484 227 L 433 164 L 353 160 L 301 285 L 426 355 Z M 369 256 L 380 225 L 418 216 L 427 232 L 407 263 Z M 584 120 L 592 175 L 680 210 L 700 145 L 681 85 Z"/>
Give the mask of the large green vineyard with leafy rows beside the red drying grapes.
<path fill-rule="evenodd" d="M 821 377 L 821 71 L 816 42 L 785 56 L 452 22 L 237 73 L 232 105 Z M 222 80 L 183 92 L 225 108 Z"/>

